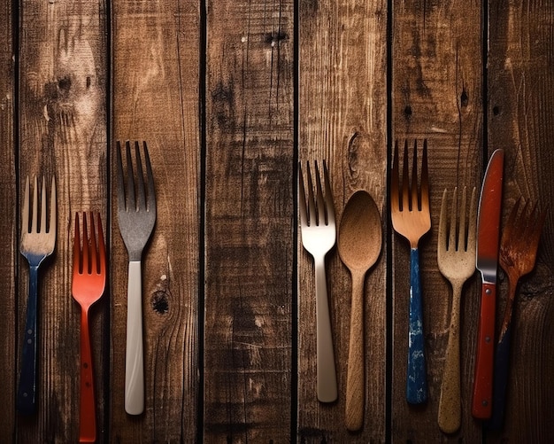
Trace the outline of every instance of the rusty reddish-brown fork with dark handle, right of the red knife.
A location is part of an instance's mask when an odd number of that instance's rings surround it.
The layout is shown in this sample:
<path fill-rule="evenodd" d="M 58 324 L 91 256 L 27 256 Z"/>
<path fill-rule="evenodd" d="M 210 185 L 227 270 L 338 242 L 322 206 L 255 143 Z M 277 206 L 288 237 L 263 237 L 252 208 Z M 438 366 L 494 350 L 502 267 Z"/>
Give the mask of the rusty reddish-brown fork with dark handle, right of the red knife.
<path fill-rule="evenodd" d="M 521 198 L 512 208 L 512 213 L 500 239 L 500 266 L 508 275 L 508 298 L 504 308 L 504 320 L 496 344 L 495 370 L 493 380 L 492 417 L 486 423 L 489 430 L 500 430 L 504 424 L 504 406 L 510 344 L 512 342 L 512 313 L 519 278 L 535 268 L 536 253 L 541 238 L 546 210 L 539 213 L 537 203 L 529 208 L 527 201 L 519 211 Z"/>

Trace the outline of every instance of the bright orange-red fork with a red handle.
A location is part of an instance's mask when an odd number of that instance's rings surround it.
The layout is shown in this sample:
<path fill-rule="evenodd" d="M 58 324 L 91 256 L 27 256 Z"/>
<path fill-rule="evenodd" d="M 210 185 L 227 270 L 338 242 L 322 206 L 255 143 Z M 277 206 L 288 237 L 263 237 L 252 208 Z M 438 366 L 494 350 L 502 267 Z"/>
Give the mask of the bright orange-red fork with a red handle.
<path fill-rule="evenodd" d="M 82 247 L 79 214 L 75 214 L 73 240 L 73 299 L 81 306 L 81 400 L 79 406 L 79 442 L 96 441 L 96 401 L 94 374 L 88 323 L 88 310 L 104 294 L 106 282 L 106 252 L 100 214 L 90 214 L 90 230 L 87 214 L 82 216 Z"/>

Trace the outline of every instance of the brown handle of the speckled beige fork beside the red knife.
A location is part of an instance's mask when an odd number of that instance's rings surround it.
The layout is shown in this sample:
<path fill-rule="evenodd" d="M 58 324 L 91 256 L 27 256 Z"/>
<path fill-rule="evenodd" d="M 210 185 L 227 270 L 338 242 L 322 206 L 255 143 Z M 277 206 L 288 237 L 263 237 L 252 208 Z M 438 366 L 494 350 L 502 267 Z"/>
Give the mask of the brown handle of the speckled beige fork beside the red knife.
<path fill-rule="evenodd" d="M 450 315 L 450 332 L 444 370 L 442 371 L 441 398 L 439 400 L 438 425 L 442 432 L 456 432 L 462 421 L 460 395 L 460 356 L 459 356 L 459 303 L 462 284 L 452 284 L 452 313 Z"/>

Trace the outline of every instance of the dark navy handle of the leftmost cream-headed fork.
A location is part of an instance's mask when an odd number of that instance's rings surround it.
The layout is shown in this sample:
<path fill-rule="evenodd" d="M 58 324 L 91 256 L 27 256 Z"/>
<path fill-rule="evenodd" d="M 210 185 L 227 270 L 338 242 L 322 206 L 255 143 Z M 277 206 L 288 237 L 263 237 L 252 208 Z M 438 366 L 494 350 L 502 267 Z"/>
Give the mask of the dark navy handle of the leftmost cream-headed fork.
<path fill-rule="evenodd" d="M 38 300 L 38 266 L 29 267 L 27 321 L 23 336 L 21 374 L 19 377 L 17 407 L 20 413 L 31 415 L 36 409 L 36 312 Z"/>

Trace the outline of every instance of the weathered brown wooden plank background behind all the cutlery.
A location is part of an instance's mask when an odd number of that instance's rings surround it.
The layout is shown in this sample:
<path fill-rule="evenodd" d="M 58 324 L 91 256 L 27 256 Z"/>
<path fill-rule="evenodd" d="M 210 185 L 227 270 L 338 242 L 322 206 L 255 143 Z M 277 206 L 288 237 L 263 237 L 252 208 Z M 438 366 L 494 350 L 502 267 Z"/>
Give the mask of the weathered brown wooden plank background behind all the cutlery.
<path fill-rule="evenodd" d="M 79 319 L 74 214 L 102 214 L 109 291 L 91 312 L 99 442 L 549 442 L 554 436 L 553 5 L 538 0 L 0 2 L 0 440 L 74 442 Z M 433 228 L 421 271 L 429 401 L 404 400 L 409 248 L 391 230 L 396 140 L 427 138 Z M 142 262 L 146 409 L 123 409 L 127 252 L 114 149 L 146 140 L 158 220 Z M 480 277 L 462 300 L 463 417 L 436 423 L 450 285 L 436 265 L 442 191 L 481 184 L 505 150 L 503 220 L 549 213 L 519 285 L 504 430 L 471 417 Z M 344 426 L 350 276 L 327 255 L 339 399 L 315 396 L 312 259 L 297 164 L 327 160 L 337 217 L 369 191 L 381 256 L 365 280 L 365 420 Z M 41 269 L 38 412 L 15 409 L 27 175 L 56 175 L 56 252 Z M 507 279 L 499 271 L 497 318 Z"/>

